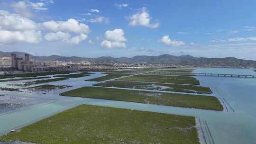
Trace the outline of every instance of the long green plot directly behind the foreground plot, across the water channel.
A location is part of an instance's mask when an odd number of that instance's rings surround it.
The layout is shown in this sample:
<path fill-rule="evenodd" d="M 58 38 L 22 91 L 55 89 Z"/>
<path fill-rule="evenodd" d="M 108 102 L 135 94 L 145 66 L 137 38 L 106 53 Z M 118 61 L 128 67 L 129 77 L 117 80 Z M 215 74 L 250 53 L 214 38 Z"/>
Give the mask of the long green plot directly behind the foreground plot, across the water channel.
<path fill-rule="evenodd" d="M 101 87 L 82 87 L 61 93 L 62 96 L 73 96 L 93 99 L 109 99 L 150 103 L 156 105 L 223 110 L 219 100 L 210 96 L 196 96 L 176 93 L 160 93 L 139 90 L 121 90 Z"/>

